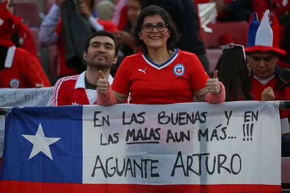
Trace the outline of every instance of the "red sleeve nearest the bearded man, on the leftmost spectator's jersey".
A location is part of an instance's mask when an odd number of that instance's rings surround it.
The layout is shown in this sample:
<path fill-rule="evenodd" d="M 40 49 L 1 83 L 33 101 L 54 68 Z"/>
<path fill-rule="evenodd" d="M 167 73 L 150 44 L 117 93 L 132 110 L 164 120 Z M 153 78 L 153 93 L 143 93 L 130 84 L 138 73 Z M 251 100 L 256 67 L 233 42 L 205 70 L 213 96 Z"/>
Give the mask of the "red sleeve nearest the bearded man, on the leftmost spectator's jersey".
<path fill-rule="evenodd" d="M 42 87 L 41 85 L 44 87 L 51 86 L 38 59 L 26 50 L 21 49 L 20 52 L 19 54 L 23 56 L 23 61 L 26 61 L 25 69 L 23 69 L 23 76 L 25 76 L 29 87 Z"/>

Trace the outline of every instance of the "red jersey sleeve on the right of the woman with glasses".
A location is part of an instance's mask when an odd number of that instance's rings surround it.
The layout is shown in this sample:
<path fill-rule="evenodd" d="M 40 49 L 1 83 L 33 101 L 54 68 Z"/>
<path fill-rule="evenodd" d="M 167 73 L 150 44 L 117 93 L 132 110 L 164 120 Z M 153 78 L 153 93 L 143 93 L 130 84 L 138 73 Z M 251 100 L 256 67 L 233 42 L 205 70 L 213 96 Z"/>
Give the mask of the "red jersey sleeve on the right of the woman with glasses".
<path fill-rule="evenodd" d="M 190 67 L 190 82 L 193 92 L 205 88 L 209 77 L 195 54 L 192 54 Z"/>

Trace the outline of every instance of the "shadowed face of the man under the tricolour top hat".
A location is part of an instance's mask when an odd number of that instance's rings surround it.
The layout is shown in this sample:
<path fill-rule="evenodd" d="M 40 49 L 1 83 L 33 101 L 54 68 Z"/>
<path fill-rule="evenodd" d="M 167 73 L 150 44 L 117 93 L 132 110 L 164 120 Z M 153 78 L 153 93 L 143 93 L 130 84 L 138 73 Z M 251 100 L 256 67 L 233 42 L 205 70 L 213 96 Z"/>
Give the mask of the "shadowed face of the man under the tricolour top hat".
<path fill-rule="evenodd" d="M 252 52 L 249 63 L 253 74 L 259 78 L 268 78 L 274 74 L 278 57 L 272 52 Z"/>

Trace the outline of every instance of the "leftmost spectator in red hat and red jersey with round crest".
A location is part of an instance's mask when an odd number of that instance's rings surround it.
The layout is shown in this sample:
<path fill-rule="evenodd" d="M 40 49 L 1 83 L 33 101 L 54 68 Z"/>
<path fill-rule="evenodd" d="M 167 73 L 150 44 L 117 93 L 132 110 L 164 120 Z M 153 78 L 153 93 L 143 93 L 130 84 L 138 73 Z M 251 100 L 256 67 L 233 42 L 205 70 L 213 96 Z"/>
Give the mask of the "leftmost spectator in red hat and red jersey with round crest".
<path fill-rule="evenodd" d="M 0 4 L 0 88 L 51 86 L 38 59 L 10 40 L 21 20 Z"/>

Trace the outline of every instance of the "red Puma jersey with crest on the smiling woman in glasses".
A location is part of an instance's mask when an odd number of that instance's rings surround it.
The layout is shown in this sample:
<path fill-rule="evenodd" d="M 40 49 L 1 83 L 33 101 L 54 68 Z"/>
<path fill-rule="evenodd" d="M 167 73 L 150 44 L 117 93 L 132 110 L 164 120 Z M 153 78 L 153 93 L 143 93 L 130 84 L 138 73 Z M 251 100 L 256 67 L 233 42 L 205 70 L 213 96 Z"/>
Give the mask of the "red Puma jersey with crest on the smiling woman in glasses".
<path fill-rule="evenodd" d="M 157 65 L 143 53 L 125 57 L 114 77 L 112 90 L 130 94 L 133 104 L 193 102 L 193 92 L 205 88 L 208 75 L 195 54 L 176 50 Z"/>

